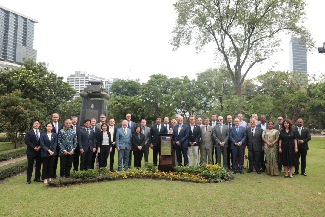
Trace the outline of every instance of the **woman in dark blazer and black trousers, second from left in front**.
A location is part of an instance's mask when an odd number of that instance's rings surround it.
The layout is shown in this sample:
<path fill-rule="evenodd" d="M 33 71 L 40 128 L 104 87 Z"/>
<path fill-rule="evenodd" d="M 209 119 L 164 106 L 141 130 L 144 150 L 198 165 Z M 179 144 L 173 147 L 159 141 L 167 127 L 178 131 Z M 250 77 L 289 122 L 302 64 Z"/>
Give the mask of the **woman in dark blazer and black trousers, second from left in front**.
<path fill-rule="evenodd" d="M 58 154 L 58 136 L 56 133 L 52 133 L 52 129 L 54 128 L 52 122 L 48 122 L 45 128 L 46 133 L 40 136 L 40 145 L 42 147 L 41 158 L 43 163 L 42 179 L 44 180 L 44 184 L 47 184 L 47 181 L 51 181 L 53 178 L 54 160 Z"/>

